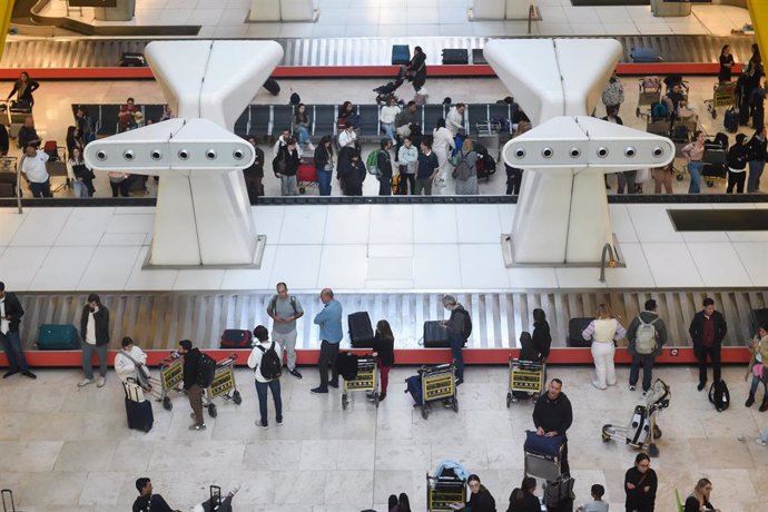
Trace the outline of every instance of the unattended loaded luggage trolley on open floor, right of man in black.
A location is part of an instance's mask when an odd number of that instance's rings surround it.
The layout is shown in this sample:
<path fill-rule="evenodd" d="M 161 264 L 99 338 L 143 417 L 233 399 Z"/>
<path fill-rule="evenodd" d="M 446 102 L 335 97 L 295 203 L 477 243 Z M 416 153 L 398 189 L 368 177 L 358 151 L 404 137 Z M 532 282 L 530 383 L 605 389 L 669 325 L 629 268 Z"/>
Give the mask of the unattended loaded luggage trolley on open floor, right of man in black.
<path fill-rule="evenodd" d="M 612 424 L 603 425 L 602 440 L 608 443 L 611 440 L 622 441 L 630 446 L 642 450 L 648 446 L 648 454 L 659 456 L 656 440 L 661 437 L 661 429 L 657 425 L 659 413 L 669 407 L 671 391 L 667 383 L 657 378 L 648 391 L 646 405 L 636 405 L 632 420 L 627 426 Z"/>

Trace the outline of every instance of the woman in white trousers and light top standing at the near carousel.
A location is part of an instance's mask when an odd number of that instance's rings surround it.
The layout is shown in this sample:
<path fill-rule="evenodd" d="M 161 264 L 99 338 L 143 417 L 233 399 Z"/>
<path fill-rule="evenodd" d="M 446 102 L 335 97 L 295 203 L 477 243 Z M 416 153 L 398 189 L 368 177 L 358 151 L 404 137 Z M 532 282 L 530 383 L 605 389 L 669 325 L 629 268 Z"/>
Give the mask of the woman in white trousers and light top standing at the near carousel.
<path fill-rule="evenodd" d="M 590 322 L 581 333 L 585 341 L 592 339 L 592 360 L 594 360 L 595 378 L 592 385 L 598 390 L 616 385 L 616 367 L 613 356 L 616 355 L 614 339 L 627 336 L 627 331 L 613 317 L 611 307 L 607 304 L 598 305 L 598 317 Z"/>

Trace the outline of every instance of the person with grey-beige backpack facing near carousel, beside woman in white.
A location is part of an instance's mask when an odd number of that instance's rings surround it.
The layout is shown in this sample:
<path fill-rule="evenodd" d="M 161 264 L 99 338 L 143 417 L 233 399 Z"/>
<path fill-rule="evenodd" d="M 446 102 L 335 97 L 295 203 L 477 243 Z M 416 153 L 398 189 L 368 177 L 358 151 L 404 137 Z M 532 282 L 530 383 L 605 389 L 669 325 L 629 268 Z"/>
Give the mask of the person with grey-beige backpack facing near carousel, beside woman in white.
<path fill-rule="evenodd" d="M 632 356 L 629 370 L 629 391 L 634 391 L 642 367 L 642 394 L 651 388 L 653 363 L 661 355 L 661 348 L 667 343 L 667 325 L 659 318 L 656 301 L 646 301 L 644 311 L 632 318 L 627 329 L 627 349 Z"/>

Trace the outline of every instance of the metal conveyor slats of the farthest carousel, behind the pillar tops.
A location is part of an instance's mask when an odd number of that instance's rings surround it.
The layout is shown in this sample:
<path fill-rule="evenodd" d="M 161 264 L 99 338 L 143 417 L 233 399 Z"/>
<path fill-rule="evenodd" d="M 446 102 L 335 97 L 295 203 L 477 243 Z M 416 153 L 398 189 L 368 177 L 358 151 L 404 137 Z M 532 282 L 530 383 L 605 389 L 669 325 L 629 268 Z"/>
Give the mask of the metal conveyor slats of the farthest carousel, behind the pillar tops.
<path fill-rule="evenodd" d="M 610 36 L 609 36 L 610 37 Z M 624 47 L 629 62 L 632 47 L 654 48 L 667 62 L 717 62 L 722 45 L 730 45 L 737 62 L 751 55 L 752 36 L 612 36 Z M 179 38 L 181 39 L 181 38 Z M 392 45 L 421 46 L 427 63 L 440 63 L 444 48 L 483 48 L 492 38 L 349 38 L 276 39 L 285 49 L 280 66 L 383 66 L 391 63 Z M 35 39 L 11 40 L 0 68 L 101 68 L 115 67 L 122 52 L 139 52 L 150 39 Z M 72 65 L 73 63 L 73 65 Z M 472 63 L 472 62 L 470 62 Z"/>

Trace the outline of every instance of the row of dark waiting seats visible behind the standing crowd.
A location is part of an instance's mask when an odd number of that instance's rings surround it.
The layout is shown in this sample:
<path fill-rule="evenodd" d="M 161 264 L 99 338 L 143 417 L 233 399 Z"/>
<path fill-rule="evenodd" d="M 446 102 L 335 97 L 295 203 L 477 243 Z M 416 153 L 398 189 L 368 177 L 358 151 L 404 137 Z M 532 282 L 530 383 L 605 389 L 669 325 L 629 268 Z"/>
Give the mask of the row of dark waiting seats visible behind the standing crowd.
<path fill-rule="evenodd" d="M 118 131 L 119 105 L 72 105 L 72 115 L 78 107 L 85 107 L 93 120 L 95 131 L 99 137 L 115 135 Z M 158 120 L 163 116 L 163 105 L 142 105 L 139 108 L 144 119 Z M 307 105 L 307 112 L 312 119 L 309 134 L 313 140 L 326 135 L 336 135 L 338 119 L 337 105 Z M 361 141 L 378 141 L 384 132 L 378 122 L 378 105 L 356 106 L 360 116 Z M 417 118 L 424 134 L 431 134 L 437 125 L 437 119 L 447 115 L 450 106 L 424 105 L 417 107 Z M 235 122 L 235 134 L 245 137 L 255 135 L 264 138 L 276 138 L 284 129 L 291 127 L 294 107 L 292 105 L 249 105 Z M 470 104 L 464 111 L 464 124 L 467 134 L 476 134 L 479 127 L 494 125 L 509 131 L 511 122 L 500 122 L 512 119 L 516 114 L 516 106 L 499 104 Z M 482 128 L 481 128 L 482 129 Z"/>

